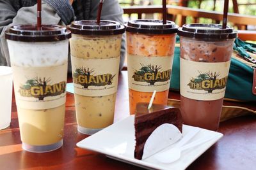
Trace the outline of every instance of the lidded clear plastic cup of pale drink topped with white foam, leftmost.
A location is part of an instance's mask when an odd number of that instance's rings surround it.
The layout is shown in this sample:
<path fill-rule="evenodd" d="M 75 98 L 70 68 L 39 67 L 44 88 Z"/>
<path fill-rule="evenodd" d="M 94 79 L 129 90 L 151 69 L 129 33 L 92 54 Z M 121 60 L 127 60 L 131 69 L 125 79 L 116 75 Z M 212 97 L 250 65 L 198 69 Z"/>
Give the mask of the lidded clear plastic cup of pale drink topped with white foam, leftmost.
<path fill-rule="evenodd" d="M 15 25 L 6 31 L 22 148 L 49 152 L 63 145 L 68 38 L 58 25 Z"/>

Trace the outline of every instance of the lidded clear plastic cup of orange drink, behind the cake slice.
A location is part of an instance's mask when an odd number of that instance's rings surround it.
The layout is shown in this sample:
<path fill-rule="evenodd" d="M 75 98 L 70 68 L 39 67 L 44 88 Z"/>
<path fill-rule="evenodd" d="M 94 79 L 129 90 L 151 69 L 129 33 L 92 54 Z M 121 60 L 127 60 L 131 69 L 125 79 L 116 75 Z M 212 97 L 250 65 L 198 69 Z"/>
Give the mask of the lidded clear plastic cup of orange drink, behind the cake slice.
<path fill-rule="evenodd" d="M 132 20 L 126 25 L 130 114 L 137 103 L 167 104 L 178 26 L 163 20 Z"/>

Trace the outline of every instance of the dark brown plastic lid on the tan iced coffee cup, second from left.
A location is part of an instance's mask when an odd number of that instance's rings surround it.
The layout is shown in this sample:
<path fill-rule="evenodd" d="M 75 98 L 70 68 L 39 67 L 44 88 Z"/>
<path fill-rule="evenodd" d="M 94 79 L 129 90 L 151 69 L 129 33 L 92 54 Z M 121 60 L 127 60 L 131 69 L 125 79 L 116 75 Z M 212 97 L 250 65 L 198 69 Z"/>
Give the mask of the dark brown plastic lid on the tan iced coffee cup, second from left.
<path fill-rule="evenodd" d="M 100 20 L 99 25 L 96 20 L 74 21 L 68 25 L 67 28 L 72 32 L 72 34 L 98 36 L 123 34 L 125 31 L 125 27 L 123 25 L 112 20 Z"/>

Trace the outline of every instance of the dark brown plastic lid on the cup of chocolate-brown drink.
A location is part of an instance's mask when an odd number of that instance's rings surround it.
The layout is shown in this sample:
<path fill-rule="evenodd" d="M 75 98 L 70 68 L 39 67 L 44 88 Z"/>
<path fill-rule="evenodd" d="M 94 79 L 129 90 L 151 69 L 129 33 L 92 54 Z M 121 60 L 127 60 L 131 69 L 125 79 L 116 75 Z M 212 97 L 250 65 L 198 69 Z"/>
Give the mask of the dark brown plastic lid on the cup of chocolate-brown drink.
<path fill-rule="evenodd" d="M 222 29 L 221 24 L 185 24 L 178 29 L 179 36 L 198 39 L 232 39 L 237 32 L 230 27 Z"/>

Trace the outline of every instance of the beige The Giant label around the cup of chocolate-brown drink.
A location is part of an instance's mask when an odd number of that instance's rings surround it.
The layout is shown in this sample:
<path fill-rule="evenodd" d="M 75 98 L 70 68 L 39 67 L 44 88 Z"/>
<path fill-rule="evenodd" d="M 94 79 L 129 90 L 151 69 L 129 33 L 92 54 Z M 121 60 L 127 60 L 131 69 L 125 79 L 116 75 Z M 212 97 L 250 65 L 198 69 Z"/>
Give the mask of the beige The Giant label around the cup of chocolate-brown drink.
<path fill-rule="evenodd" d="M 200 101 L 223 98 L 229 66 L 230 61 L 195 62 L 180 58 L 180 94 Z"/>

